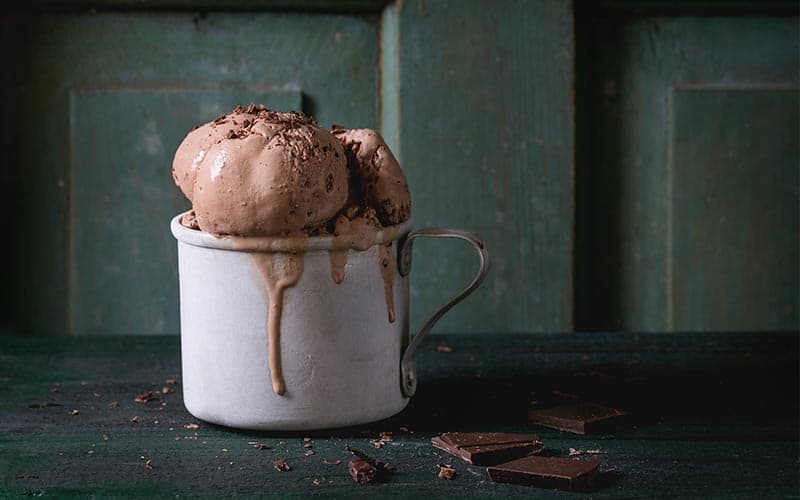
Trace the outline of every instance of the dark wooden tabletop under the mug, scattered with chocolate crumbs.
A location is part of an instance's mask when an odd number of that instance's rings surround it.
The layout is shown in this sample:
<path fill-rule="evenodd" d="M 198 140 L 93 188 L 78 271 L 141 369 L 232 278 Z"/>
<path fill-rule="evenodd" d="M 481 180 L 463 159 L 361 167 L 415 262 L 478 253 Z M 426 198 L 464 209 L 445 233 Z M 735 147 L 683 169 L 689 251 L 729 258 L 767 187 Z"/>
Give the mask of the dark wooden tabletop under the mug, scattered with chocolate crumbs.
<path fill-rule="evenodd" d="M 282 434 L 189 415 L 179 351 L 177 337 L 0 337 L 0 494 L 800 495 L 796 333 L 432 335 L 418 360 L 419 391 L 400 415 Z M 147 391 L 155 397 L 135 401 Z M 571 398 L 626 410 L 633 423 L 613 435 L 580 436 L 526 422 L 532 401 Z M 382 431 L 393 432 L 393 441 L 376 449 L 371 441 Z M 618 478 L 591 494 L 492 483 L 485 468 L 430 445 L 446 431 L 534 432 L 556 456 L 601 450 L 597 457 Z M 356 484 L 347 444 L 396 473 L 383 484 Z M 314 454 L 305 456 L 309 449 Z M 276 471 L 278 459 L 291 470 Z M 457 469 L 455 479 L 437 477 L 440 462 Z"/>

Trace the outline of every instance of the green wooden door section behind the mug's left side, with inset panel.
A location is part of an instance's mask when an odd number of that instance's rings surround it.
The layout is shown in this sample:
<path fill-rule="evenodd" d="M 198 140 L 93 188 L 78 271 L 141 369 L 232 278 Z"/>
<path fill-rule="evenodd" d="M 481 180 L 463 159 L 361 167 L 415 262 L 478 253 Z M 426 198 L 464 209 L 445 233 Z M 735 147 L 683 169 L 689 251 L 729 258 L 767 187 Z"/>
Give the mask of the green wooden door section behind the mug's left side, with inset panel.
<path fill-rule="evenodd" d="M 369 6 L 370 10 L 374 5 Z M 376 127 L 372 12 L 29 11 L 3 17 L 9 323 L 177 333 L 172 154 L 236 102 Z"/>

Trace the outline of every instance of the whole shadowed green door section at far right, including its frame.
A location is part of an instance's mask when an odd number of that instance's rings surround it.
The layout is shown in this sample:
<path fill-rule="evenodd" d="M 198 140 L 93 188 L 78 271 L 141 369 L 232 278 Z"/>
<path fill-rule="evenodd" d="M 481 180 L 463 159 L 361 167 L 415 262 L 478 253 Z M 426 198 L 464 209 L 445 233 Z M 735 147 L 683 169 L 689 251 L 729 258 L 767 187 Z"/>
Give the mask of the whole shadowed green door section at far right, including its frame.
<path fill-rule="evenodd" d="M 581 328 L 797 329 L 798 20 L 727 13 L 579 16 Z"/>

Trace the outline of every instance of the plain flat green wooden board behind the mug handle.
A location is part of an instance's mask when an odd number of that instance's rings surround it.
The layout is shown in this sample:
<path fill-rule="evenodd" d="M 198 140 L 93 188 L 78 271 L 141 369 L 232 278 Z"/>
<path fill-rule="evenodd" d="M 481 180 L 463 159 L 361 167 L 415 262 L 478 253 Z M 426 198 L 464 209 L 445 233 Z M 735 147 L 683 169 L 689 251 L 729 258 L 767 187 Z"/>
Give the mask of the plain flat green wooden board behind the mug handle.
<path fill-rule="evenodd" d="M 440 331 L 569 330 L 570 2 L 487 7 L 401 3 L 399 110 L 383 126 L 400 141 L 416 225 L 472 229 L 493 258 L 483 287 L 442 320 Z M 454 246 L 415 247 L 412 307 L 430 309 L 469 281 L 475 259 Z"/>

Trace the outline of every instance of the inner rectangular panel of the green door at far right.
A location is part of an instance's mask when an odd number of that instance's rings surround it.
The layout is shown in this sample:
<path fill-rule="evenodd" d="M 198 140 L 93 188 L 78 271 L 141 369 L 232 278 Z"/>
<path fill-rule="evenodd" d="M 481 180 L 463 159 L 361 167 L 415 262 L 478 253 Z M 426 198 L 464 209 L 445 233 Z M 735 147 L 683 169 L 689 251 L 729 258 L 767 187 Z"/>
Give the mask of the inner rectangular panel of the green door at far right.
<path fill-rule="evenodd" d="M 799 106 L 792 88 L 670 93 L 670 330 L 797 327 Z"/>

